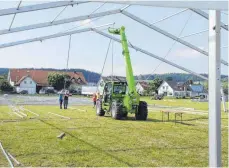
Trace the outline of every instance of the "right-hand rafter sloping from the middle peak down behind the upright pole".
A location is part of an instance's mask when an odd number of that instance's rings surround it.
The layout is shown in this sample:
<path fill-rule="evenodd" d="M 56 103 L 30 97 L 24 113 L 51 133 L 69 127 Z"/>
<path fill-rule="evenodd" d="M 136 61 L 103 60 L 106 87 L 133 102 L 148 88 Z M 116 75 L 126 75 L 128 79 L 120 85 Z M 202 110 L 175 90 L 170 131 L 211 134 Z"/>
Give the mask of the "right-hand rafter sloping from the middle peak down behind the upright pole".
<path fill-rule="evenodd" d="M 163 34 L 163 35 L 165 35 L 165 36 L 167 36 L 167 37 L 169 37 L 169 38 L 171 38 L 171 39 L 173 39 L 173 40 L 175 40 L 175 41 L 177 41 L 177 42 L 179 42 L 179 43 L 181 43 L 181 44 L 183 44 L 183 45 L 185 45 L 185 46 L 187 46 L 187 47 L 189 47 L 189 48 L 191 48 L 193 50 L 196 50 L 196 51 L 200 52 L 201 54 L 204 54 L 204 55 L 208 56 L 208 52 L 206 52 L 206 51 L 204 51 L 204 50 L 192 45 L 191 43 L 189 43 L 187 41 L 182 40 L 179 37 L 176 37 L 176 36 L 166 32 L 166 31 L 160 29 L 157 26 L 154 26 L 154 25 L 148 23 L 147 21 L 145 21 L 145 20 L 143 20 L 143 19 L 141 19 L 141 18 L 139 18 L 139 17 L 127 12 L 127 11 L 122 11 L 122 14 L 124 14 L 125 16 L 127 16 L 127 17 L 129 17 L 129 18 L 131 18 L 131 19 L 133 19 L 133 20 L 135 20 L 135 21 L 147 26 L 147 27 L 149 27 L 150 29 L 153 29 L 153 30 L 157 31 L 158 33 L 161 33 L 161 34 Z M 228 66 L 228 63 L 226 61 L 224 61 L 224 60 L 221 60 L 221 63 Z"/>

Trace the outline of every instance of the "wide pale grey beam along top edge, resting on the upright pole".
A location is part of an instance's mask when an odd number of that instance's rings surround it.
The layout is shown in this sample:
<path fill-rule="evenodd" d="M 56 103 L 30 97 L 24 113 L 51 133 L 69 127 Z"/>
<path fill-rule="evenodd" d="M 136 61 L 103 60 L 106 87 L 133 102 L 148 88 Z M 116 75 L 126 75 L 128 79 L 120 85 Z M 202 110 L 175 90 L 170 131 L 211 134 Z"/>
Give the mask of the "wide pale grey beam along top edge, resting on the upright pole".
<path fill-rule="evenodd" d="M 93 0 L 93 2 L 116 3 L 116 4 L 130 4 L 154 7 L 167 7 L 167 8 L 194 8 L 203 10 L 228 10 L 227 1 L 130 1 L 130 0 Z"/>

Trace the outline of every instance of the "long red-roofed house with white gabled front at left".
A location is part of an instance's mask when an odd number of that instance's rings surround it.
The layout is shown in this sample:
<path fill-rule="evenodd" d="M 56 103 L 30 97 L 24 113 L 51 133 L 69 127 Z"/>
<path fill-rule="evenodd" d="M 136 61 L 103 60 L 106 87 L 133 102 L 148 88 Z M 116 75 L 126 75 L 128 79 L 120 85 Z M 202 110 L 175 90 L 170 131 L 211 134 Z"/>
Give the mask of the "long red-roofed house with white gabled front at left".
<path fill-rule="evenodd" d="M 27 90 L 28 93 L 39 93 L 43 87 L 49 86 L 48 76 L 58 71 L 35 70 L 35 69 L 10 69 L 8 73 L 8 81 L 12 86 L 16 87 L 18 92 Z M 63 73 L 63 72 L 59 72 Z M 64 72 L 71 77 L 72 85 L 81 87 L 87 84 L 81 72 Z M 32 81 L 32 82 L 31 82 Z M 34 92 L 35 90 L 35 92 Z"/>

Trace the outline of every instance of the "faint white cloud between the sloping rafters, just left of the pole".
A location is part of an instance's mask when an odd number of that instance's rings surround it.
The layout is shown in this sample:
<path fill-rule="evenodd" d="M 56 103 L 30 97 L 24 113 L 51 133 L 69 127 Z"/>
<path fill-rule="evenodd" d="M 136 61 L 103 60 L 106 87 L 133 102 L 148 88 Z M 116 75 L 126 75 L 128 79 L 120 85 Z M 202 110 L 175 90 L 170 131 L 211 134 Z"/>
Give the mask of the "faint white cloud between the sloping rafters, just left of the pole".
<path fill-rule="evenodd" d="M 204 47 L 199 47 L 199 48 L 202 50 L 205 50 Z M 174 51 L 172 55 L 178 56 L 178 57 L 198 57 L 200 56 L 200 53 L 191 48 L 181 48 L 181 49 L 177 49 L 176 51 Z"/>

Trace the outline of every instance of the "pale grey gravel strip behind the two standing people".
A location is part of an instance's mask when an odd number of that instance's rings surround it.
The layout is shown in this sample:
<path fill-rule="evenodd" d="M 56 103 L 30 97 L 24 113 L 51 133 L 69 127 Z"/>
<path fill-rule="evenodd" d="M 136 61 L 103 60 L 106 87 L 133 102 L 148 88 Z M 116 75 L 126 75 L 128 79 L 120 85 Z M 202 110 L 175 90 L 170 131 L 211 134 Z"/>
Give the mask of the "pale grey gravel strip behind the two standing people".
<path fill-rule="evenodd" d="M 92 105 L 89 98 L 69 97 L 69 105 Z M 58 105 L 58 96 L 0 95 L 0 105 Z"/>

